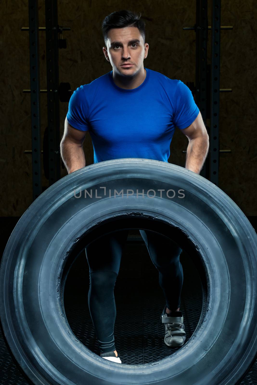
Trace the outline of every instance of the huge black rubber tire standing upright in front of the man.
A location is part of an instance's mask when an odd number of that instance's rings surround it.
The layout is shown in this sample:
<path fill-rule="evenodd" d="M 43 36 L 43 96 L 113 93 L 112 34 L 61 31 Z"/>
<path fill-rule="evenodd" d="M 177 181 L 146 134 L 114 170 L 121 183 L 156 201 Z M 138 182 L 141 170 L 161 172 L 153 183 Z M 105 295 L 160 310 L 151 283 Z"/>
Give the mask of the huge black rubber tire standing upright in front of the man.
<path fill-rule="evenodd" d="M 104 360 L 78 341 L 65 317 L 66 261 L 117 226 L 194 246 L 204 266 L 206 311 L 190 340 L 160 362 Z M 150 159 L 93 164 L 49 187 L 15 226 L 0 266 L 2 328 L 35 384 L 234 385 L 257 352 L 256 250 L 256 233 L 239 207 L 194 172 Z"/>

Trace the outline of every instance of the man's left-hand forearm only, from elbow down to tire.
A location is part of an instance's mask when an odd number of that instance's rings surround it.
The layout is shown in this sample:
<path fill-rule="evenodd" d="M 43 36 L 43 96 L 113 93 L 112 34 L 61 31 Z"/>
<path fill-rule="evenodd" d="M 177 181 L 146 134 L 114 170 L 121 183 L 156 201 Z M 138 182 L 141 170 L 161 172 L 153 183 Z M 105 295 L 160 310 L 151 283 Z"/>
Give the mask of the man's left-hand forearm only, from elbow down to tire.
<path fill-rule="evenodd" d="M 68 174 L 85 167 L 86 161 L 82 146 L 68 141 L 61 141 L 60 152 Z"/>

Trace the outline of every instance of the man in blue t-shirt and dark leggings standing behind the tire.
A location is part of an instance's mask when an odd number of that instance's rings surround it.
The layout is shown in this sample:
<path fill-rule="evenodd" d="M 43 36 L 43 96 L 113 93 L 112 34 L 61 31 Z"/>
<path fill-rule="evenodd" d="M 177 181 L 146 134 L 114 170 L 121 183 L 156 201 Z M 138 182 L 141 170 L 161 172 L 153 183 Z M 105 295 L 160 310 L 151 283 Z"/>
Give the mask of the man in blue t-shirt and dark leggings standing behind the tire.
<path fill-rule="evenodd" d="M 103 20 L 103 53 L 112 71 L 78 87 L 70 99 L 60 144 L 68 173 L 85 167 L 82 144 L 86 131 L 92 139 L 94 163 L 130 157 L 168 162 L 176 126 L 189 139 L 185 168 L 197 174 L 202 169 L 209 149 L 202 116 L 183 82 L 144 68 L 149 44 L 145 43 L 145 24 L 140 16 L 122 10 Z M 140 233 L 159 270 L 159 283 L 166 299 L 162 312 L 164 342 L 167 346 L 182 346 L 186 338 L 179 308 L 182 249 L 162 234 L 146 230 Z M 114 362 L 121 361 L 113 337 L 113 288 L 127 234 L 112 233 L 86 248 L 90 315 L 101 357 Z"/>

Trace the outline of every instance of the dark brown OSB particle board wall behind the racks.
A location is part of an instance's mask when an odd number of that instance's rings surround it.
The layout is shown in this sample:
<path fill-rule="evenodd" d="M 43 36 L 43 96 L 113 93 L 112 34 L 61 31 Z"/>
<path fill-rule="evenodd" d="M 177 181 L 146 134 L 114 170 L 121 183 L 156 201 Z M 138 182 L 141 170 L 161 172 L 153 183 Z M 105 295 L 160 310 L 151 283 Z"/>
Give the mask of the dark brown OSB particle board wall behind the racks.
<path fill-rule="evenodd" d="M 39 0 L 39 24 L 45 25 L 45 2 Z M 210 25 L 209 1 L 209 25 Z M 146 22 L 149 53 L 144 66 L 184 83 L 195 80 L 195 32 L 183 26 L 195 24 L 195 2 L 189 0 L 62 1 L 58 2 L 58 24 L 71 27 L 64 32 L 67 49 L 59 50 L 59 79 L 69 82 L 72 90 L 106 74 L 112 67 L 102 51 L 103 18 L 121 9 L 141 12 Z M 21 216 L 32 203 L 32 162 L 24 150 L 31 149 L 29 35 L 20 28 L 28 26 L 28 3 L 6 2 L 2 7 L 2 89 L 1 155 L 2 167 L 0 216 Z M 220 94 L 219 187 L 232 198 L 247 216 L 257 215 L 255 199 L 256 152 L 256 9 L 253 0 L 244 3 L 222 1 L 221 24 L 233 30 L 221 31 L 220 88 L 232 93 Z M 40 32 L 40 87 L 46 88 L 45 32 Z M 210 62 L 210 31 L 208 60 Z M 68 103 L 60 103 L 60 132 Z M 207 121 L 207 125 L 210 122 Z M 41 130 L 47 126 L 47 96 L 41 94 Z M 61 139 L 61 137 L 60 137 Z M 169 162 L 185 166 L 187 138 L 176 129 Z M 86 164 L 93 163 L 89 134 L 84 141 Z M 67 174 L 62 170 L 62 176 Z M 42 175 L 43 186 L 48 181 Z"/>

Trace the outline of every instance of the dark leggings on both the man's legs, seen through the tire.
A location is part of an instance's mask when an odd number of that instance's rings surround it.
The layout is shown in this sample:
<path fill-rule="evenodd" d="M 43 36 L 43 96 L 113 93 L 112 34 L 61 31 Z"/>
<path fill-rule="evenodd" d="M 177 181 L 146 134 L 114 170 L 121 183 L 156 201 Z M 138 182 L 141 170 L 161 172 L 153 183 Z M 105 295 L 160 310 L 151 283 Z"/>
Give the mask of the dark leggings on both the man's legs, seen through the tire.
<path fill-rule="evenodd" d="M 115 231 L 85 248 L 90 276 L 88 308 L 100 353 L 116 350 L 113 335 L 116 318 L 113 289 L 128 233 L 129 230 Z M 159 285 L 164 291 L 167 308 L 177 310 L 183 284 L 183 269 L 179 261 L 182 249 L 159 233 L 140 230 L 140 234 L 153 264 L 159 270 Z"/>

